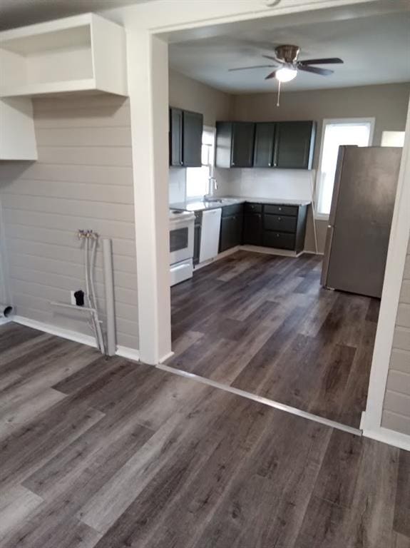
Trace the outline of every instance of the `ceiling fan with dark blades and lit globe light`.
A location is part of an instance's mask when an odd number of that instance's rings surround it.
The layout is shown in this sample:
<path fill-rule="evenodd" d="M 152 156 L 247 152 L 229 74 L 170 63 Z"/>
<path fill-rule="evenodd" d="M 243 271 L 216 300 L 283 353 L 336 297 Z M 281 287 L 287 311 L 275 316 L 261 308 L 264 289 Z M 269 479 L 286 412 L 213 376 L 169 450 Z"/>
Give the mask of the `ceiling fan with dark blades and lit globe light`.
<path fill-rule="evenodd" d="M 265 77 L 265 80 L 270 78 L 276 78 L 280 82 L 289 82 L 296 77 L 297 71 L 312 72 L 319 74 L 320 76 L 329 76 L 334 71 L 329 68 L 319 68 L 312 65 L 324 65 L 324 64 L 340 64 L 343 63 L 339 57 L 326 57 L 324 59 L 306 59 L 304 61 L 298 61 L 297 58 L 300 53 L 299 46 L 284 45 L 277 46 L 275 48 L 275 56 L 262 55 L 265 59 L 275 61 L 275 64 L 269 65 L 255 65 L 255 66 L 242 66 L 240 68 L 230 68 L 229 71 L 245 71 L 249 68 L 275 68 L 275 71 L 271 72 Z"/>

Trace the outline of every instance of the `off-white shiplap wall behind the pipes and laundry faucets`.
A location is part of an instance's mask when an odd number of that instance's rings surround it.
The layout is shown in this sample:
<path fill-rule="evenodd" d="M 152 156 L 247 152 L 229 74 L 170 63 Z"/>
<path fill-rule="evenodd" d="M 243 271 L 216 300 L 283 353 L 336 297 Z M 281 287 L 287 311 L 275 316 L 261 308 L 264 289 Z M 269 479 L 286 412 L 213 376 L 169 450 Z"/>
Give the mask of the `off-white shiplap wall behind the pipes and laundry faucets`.
<path fill-rule="evenodd" d="M 1 163 L 9 281 L 16 313 L 91 335 L 80 313 L 62 312 L 84 289 L 78 228 L 113 239 L 118 344 L 138 349 L 130 107 L 117 96 L 34 100 L 39 161 Z M 103 299 L 102 253 L 96 290 Z"/>

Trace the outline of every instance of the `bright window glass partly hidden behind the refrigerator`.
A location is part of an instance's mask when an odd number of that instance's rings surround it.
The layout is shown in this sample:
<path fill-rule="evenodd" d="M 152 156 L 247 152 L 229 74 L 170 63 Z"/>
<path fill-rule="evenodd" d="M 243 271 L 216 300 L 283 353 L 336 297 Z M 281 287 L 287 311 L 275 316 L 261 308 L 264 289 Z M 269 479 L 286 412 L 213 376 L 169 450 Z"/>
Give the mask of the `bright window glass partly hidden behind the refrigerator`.
<path fill-rule="evenodd" d="M 330 213 L 339 146 L 368 146 L 370 130 L 371 125 L 369 122 L 327 123 L 324 128 L 322 162 L 319 167 L 318 213 L 324 215 Z"/>

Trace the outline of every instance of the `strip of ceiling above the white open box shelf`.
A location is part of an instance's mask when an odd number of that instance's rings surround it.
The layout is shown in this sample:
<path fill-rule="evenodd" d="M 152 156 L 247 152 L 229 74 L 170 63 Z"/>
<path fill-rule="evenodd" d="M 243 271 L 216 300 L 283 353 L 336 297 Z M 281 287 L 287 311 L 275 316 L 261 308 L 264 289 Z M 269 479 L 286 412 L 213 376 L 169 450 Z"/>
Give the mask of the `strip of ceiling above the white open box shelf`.
<path fill-rule="evenodd" d="M 0 0 L 0 30 L 150 0 Z"/>

